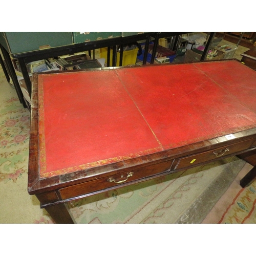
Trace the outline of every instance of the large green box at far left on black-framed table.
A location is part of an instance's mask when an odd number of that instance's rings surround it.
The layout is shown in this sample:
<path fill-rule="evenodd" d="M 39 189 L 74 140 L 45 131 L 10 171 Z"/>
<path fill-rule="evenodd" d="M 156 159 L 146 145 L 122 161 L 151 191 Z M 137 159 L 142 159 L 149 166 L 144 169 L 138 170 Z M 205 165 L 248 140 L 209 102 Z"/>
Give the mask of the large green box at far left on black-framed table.
<path fill-rule="evenodd" d="M 0 32 L 0 44 L 18 54 L 73 44 L 72 32 Z"/>

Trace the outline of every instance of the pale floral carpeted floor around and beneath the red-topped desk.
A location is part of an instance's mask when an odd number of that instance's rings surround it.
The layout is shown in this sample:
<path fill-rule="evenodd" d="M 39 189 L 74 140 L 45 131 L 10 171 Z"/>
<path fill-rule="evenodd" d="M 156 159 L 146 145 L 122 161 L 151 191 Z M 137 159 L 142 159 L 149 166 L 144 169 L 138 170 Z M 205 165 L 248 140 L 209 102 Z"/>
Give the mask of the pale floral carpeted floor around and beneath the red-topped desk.
<path fill-rule="evenodd" d="M 27 191 L 30 112 L 1 66 L 0 91 L 0 223 L 53 223 Z M 237 178 L 244 166 L 231 157 L 69 206 L 77 223 L 255 223 L 256 183 L 242 189 Z"/>

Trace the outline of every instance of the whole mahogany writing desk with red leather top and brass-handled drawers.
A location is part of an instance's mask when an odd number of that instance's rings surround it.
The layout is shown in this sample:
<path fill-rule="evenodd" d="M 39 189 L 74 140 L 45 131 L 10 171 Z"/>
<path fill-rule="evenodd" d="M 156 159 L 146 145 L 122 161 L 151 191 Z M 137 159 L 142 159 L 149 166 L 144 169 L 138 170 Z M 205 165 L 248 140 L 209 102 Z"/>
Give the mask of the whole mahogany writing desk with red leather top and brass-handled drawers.
<path fill-rule="evenodd" d="M 69 201 L 232 155 L 253 162 L 255 95 L 256 72 L 233 59 L 35 74 L 28 192 L 73 223 Z"/>

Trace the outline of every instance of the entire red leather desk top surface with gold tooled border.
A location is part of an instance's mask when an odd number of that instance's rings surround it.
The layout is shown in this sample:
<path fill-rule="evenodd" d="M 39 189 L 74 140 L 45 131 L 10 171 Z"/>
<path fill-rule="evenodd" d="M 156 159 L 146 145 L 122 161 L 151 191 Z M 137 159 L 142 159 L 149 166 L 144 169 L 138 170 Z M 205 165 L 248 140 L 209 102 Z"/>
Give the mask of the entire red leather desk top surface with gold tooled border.
<path fill-rule="evenodd" d="M 256 127 L 255 95 L 236 60 L 40 74 L 40 177 Z"/>

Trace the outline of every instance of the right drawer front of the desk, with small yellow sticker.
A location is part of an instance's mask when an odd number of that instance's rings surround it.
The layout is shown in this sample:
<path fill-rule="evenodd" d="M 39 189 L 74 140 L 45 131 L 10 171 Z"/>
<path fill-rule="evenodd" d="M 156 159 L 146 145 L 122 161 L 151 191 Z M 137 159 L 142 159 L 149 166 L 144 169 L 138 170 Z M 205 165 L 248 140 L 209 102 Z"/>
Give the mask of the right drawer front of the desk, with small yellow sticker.
<path fill-rule="evenodd" d="M 241 141 L 238 143 L 234 143 L 228 146 L 219 147 L 216 150 L 206 151 L 203 153 L 190 155 L 187 157 L 182 157 L 179 159 L 175 169 L 181 169 L 185 167 L 193 167 L 193 165 L 200 164 L 207 161 L 218 160 L 218 158 L 223 156 L 229 156 L 234 153 L 241 152 L 243 150 L 247 150 L 251 147 L 254 139 L 249 139 L 245 141 Z"/>

